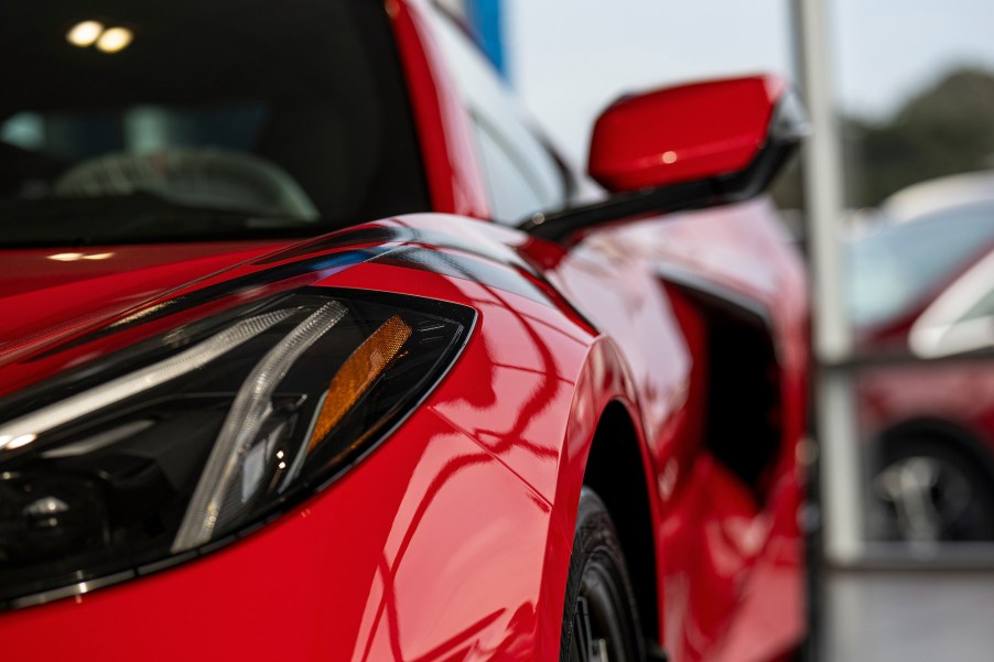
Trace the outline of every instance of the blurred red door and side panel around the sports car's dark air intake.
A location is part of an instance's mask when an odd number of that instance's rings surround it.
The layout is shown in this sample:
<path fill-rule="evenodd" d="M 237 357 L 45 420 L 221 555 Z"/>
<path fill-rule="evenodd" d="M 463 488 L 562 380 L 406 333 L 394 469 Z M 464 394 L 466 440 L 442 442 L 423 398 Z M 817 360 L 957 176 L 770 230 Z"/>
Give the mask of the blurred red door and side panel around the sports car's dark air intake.
<path fill-rule="evenodd" d="M 673 660 L 775 659 L 806 630 L 796 447 L 804 431 L 808 321 L 802 267 L 787 243 L 760 202 L 596 231 L 552 271 L 631 370 L 657 484 L 650 493 L 659 498 L 660 630 Z M 770 316 L 782 443 L 765 502 L 701 445 L 704 417 L 722 415 L 709 411 L 701 384 L 706 323 L 661 286 L 657 274 L 667 265 L 738 292 Z"/>

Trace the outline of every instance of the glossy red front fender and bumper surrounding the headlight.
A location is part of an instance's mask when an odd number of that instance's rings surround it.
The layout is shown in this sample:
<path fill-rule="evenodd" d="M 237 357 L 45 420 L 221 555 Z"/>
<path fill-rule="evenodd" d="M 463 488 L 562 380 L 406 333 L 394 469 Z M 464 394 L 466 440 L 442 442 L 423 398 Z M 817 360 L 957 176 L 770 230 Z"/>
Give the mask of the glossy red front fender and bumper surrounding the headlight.
<path fill-rule="evenodd" d="M 451 219 L 406 223 L 429 228 Z M 106 659 L 99 642 L 114 639 L 115 654 L 144 650 L 161 660 L 192 649 L 204 659 L 554 656 L 572 521 L 570 509 L 553 511 L 550 497 L 558 481 L 582 478 L 588 439 L 566 426 L 588 432 L 596 422 L 595 408 L 571 414 L 596 336 L 572 311 L 426 272 L 368 264 L 313 284 L 472 305 L 480 313 L 478 333 L 390 443 L 305 508 L 203 562 L 7 615 L 0 629 L 17 633 L 19 654 Z M 531 354 L 508 352 L 508 343 L 548 356 L 550 372 L 537 371 Z M 531 415 L 516 430 L 522 410 Z M 557 442 L 564 437 L 576 446 L 568 473 Z M 377 498 L 364 496 L 370 493 Z M 512 580 L 504 576 L 509 572 Z M 129 608 L 134 604 L 149 608 Z M 65 638 L 37 641 L 62 620 L 71 623 Z M 203 630 L 207 621 L 213 630 Z M 293 623 L 292 636 L 280 622 Z"/>

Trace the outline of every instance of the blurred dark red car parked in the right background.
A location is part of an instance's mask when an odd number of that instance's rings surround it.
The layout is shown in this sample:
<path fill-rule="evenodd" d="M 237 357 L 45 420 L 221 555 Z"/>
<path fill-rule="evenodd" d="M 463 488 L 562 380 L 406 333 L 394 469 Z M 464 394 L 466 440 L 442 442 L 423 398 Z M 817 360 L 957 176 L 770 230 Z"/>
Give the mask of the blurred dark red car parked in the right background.
<path fill-rule="evenodd" d="M 994 540 L 992 185 L 911 186 L 849 245 L 877 539 Z"/>

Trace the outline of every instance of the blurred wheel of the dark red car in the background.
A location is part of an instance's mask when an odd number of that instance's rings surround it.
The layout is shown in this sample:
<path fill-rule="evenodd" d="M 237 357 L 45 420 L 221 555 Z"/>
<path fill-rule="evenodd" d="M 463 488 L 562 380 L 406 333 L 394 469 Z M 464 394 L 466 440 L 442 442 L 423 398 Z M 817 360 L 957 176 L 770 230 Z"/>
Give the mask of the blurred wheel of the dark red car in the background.
<path fill-rule="evenodd" d="M 994 481 L 944 439 L 882 449 L 872 490 L 880 533 L 910 542 L 994 540 Z"/>

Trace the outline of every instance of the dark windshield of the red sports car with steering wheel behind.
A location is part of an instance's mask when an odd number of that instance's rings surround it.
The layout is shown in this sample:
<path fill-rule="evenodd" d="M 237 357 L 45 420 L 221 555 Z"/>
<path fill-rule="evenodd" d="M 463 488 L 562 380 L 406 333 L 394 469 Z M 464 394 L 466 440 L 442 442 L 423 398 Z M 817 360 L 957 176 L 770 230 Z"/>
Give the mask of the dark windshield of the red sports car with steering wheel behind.
<path fill-rule="evenodd" d="M 428 196 L 383 4 L 0 6 L 0 246 L 301 236 Z"/>

